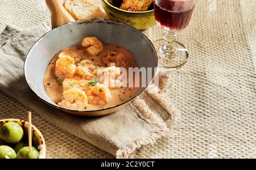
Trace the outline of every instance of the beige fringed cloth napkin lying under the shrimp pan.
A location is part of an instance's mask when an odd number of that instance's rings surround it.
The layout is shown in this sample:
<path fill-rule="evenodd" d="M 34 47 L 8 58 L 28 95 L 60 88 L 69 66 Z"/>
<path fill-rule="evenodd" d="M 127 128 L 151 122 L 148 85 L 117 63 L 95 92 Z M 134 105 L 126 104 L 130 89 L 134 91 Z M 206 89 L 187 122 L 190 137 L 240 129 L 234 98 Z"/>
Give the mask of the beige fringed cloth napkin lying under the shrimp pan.
<path fill-rule="evenodd" d="M 179 111 L 162 92 L 165 83 L 170 82 L 170 72 L 159 71 L 159 88 L 150 85 L 127 107 L 108 116 L 73 116 L 40 101 L 27 86 L 23 65 L 28 50 L 47 31 L 49 29 L 40 24 L 23 31 L 7 26 L 1 33 L 0 89 L 3 92 L 38 112 L 49 122 L 117 158 L 129 158 L 129 154 L 136 149 L 153 144 L 156 139 L 168 134 L 179 116 Z"/>

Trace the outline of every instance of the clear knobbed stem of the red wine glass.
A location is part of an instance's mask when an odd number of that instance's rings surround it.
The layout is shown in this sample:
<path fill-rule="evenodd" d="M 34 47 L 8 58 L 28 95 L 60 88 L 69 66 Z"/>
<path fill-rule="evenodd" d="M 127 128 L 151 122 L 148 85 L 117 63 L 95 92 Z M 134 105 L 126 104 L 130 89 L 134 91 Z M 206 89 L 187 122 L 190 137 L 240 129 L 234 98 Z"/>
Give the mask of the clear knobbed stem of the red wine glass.
<path fill-rule="evenodd" d="M 174 42 L 177 39 L 177 32 L 164 31 L 164 46 L 163 52 L 168 55 L 173 55 L 176 52 L 176 47 L 174 46 Z"/>

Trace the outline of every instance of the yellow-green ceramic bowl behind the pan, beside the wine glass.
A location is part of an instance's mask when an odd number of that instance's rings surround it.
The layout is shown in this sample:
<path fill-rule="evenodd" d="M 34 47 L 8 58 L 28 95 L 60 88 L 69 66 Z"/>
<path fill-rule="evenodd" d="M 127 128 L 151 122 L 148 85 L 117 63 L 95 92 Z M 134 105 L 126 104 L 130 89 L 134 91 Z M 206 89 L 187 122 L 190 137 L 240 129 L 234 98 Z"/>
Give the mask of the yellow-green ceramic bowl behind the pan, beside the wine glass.
<path fill-rule="evenodd" d="M 154 10 L 150 11 L 126 11 L 109 3 L 109 0 L 101 0 L 102 6 L 109 19 L 129 24 L 137 29 L 147 29 L 156 24 Z"/>

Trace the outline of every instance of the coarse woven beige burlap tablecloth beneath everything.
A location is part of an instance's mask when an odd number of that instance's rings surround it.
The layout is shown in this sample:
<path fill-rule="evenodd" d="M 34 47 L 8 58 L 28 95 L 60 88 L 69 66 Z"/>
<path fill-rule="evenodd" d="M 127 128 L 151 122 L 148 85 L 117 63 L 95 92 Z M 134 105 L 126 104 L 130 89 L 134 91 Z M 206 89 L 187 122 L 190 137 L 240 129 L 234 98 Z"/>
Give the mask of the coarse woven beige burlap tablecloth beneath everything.
<path fill-rule="evenodd" d="M 96 1 L 99 3 L 98 1 Z M 256 158 L 256 1 L 199 0 L 179 35 L 191 54 L 174 70 L 166 96 L 183 113 L 171 134 L 134 158 Z M 0 30 L 49 21 L 41 0 L 1 0 Z M 144 31 L 162 36 L 158 27 Z M 0 118 L 26 118 L 29 108 L 0 92 Z M 113 158 L 34 113 L 46 139 L 48 158 Z"/>

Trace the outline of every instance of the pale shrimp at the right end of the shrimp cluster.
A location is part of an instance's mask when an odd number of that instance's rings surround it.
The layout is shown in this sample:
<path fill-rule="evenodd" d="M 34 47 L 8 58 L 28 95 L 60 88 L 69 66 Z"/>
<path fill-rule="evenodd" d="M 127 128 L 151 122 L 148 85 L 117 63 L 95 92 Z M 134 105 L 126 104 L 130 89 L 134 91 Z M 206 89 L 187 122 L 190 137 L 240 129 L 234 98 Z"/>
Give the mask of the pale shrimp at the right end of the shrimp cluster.
<path fill-rule="evenodd" d="M 121 74 L 119 67 L 106 67 L 102 70 L 100 77 L 98 78 L 98 82 L 104 84 L 107 87 L 122 87 L 123 83 L 123 75 Z"/>

